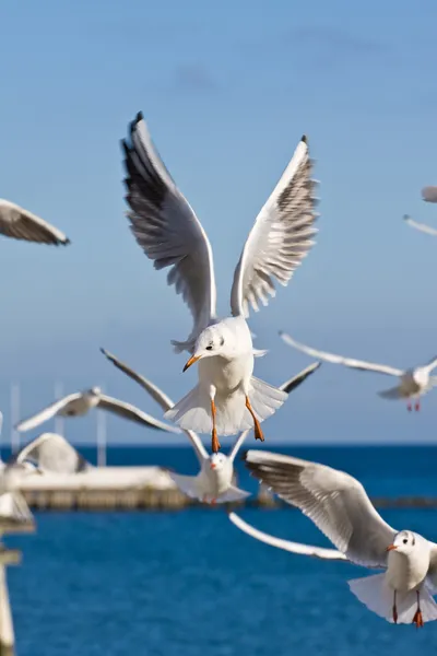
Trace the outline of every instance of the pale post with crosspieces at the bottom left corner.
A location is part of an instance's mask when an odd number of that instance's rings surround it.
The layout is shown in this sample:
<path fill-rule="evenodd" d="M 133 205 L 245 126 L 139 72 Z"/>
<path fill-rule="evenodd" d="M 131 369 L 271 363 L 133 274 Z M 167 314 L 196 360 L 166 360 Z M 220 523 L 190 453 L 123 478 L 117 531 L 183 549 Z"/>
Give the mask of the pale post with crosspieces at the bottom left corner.
<path fill-rule="evenodd" d="M 35 532 L 35 524 L 0 522 L 0 535 Z M 11 604 L 9 599 L 7 566 L 21 563 L 21 551 L 8 549 L 0 541 L 0 656 L 15 655 L 15 633 L 13 628 Z"/>

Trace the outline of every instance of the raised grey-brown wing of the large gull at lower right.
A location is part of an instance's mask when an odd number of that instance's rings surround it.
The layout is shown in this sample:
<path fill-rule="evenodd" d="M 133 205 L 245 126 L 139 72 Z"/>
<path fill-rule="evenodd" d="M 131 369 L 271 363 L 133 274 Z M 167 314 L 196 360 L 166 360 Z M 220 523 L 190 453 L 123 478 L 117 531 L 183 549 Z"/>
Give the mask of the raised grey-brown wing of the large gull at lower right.
<path fill-rule="evenodd" d="M 350 561 L 387 566 L 386 550 L 397 531 L 383 522 L 352 476 L 261 450 L 247 452 L 245 460 L 257 479 L 307 515 Z"/>

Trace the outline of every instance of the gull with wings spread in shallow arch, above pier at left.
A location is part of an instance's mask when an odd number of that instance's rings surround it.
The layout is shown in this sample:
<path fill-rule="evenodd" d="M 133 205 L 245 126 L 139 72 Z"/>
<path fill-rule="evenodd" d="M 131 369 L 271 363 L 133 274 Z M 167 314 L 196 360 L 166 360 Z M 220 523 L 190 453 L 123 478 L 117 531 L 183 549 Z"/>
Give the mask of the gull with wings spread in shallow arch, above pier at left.
<path fill-rule="evenodd" d="M 99 387 L 92 387 L 84 391 L 75 391 L 74 394 L 70 394 L 62 399 L 55 401 L 55 403 L 44 408 L 44 410 L 37 414 L 33 414 L 28 419 L 17 423 L 15 430 L 20 432 L 31 431 L 56 414 L 59 414 L 60 417 L 82 417 L 92 408 L 97 407 L 101 410 L 107 410 L 108 412 L 113 412 L 123 419 L 129 419 L 130 421 L 134 421 L 150 429 L 167 431 L 168 433 L 180 433 L 180 430 L 176 426 L 166 424 L 158 419 L 154 419 L 130 403 L 119 401 L 118 399 L 102 394 Z"/>

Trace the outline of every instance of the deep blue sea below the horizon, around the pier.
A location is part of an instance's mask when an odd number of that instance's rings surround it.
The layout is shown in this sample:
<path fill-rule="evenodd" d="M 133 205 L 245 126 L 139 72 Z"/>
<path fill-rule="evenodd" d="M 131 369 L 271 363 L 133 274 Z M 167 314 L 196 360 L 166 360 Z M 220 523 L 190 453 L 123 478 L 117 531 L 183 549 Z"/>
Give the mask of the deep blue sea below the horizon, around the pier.
<path fill-rule="evenodd" d="M 269 448 L 344 469 L 370 495 L 437 496 L 437 447 Z M 93 448 L 80 450 L 95 461 Z M 110 448 L 108 464 L 196 470 L 189 448 Z M 381 512 L 437 541 L 435 509 Z M 293 508 L 240 514 L 275 536 L 329 544 Z M 437 646 L 437 622 L 391 625 L 357 601 L 346 581 L 365 570 L 261 544 L 223 507 L 36 522 L 35 535 L 5 540 L 23 552 L 8 571 L 19 656 L 411 656 Z"/>

